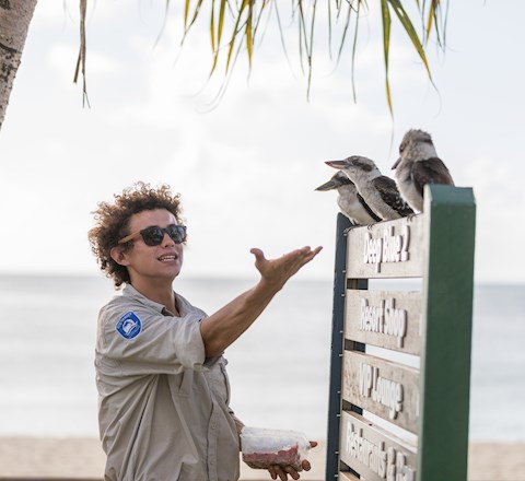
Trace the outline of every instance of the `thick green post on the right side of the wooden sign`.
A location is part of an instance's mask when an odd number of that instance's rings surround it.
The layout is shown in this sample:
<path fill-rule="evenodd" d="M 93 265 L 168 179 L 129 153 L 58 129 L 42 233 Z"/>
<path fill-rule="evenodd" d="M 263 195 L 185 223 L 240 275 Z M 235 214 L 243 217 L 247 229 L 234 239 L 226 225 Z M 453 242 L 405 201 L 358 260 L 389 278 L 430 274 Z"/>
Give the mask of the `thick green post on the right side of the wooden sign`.
<path fill-rule="evenodd" d="M 427 259 L 418 433 L 420 481 L 465 481 L 476 202 L 470 188 L 425 186 Z"/>

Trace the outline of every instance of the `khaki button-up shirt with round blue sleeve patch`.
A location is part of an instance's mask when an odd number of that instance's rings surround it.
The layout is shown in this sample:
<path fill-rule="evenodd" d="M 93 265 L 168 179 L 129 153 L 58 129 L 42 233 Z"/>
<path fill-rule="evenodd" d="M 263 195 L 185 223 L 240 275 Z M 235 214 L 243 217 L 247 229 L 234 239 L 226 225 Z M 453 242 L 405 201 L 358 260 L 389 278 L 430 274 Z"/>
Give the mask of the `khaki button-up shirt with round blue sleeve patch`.
<path fill-rule="evenodd" d="M 205 359 L 206 314 L 180 317 L 126 285 L 101 309 L 95 350 L 105 480 L 235 481 L 238 435 L 223 356 Z"/>

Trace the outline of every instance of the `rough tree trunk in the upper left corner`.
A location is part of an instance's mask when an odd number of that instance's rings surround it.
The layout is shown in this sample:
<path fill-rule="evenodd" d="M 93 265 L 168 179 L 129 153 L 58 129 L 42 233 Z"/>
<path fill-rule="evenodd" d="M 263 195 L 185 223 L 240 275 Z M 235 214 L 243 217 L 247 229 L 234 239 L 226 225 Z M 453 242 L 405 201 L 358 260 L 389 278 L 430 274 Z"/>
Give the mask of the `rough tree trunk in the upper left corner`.
<path fill-rule="evenodd" d="M 37 0 L 0 0 L 0 129 Z"/>

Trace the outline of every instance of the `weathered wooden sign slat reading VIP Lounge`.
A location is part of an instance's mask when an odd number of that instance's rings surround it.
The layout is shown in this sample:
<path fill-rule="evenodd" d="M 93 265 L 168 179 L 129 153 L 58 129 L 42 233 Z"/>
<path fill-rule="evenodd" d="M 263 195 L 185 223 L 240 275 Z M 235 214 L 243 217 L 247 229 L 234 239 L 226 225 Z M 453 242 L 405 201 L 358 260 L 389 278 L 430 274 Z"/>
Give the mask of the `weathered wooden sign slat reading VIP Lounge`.
<path fill-rule="evenodd" d="M 345 351 L 342 398 L 411 433 L 419 418 L 418 369 Z"/>

